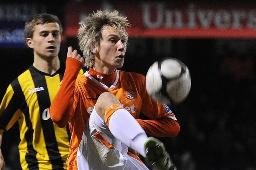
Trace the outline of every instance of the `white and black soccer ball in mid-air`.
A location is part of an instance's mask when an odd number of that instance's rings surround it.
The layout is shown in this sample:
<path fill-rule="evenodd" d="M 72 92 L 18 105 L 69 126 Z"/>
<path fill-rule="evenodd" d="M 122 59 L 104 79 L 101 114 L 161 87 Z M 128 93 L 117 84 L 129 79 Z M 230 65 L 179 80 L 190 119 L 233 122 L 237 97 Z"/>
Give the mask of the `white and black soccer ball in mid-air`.
<path fill-rule="evenodd" d="M 158 102 L 177 105 L 191 88 L 188 67 L 178 59 L 163 58 L 153 63 L 146 74 L 146 90 Z"/>

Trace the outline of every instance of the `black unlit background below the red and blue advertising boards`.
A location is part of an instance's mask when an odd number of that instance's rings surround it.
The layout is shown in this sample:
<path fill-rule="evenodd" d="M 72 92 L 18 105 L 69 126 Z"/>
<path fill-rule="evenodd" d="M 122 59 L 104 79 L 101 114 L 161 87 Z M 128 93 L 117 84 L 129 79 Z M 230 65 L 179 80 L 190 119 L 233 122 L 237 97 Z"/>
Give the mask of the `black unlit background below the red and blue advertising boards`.
<path fill-rule="evenodd" d="M 51 4 L 50 13 L 64 20 L 67 4 Z M 77 40 L 62 43 L 63 61 L 68 46 L 77 49 Z M 179 170 L 256 170 L 255 47 L 256 39 L 129 39 L 121 70 L 146 75 L 149 66 L 163 57 L 180 59 L 190 70 L 188 98 L 171 107 L 180 133 L 160 138 Z M 26 47 L 0 47 L 0 56 L 2 98 L 8 84 L 32 64 L 33 54 Z M 20 168 L 18 142 L 15 125 L 2 140 L 6 169 Z"/>

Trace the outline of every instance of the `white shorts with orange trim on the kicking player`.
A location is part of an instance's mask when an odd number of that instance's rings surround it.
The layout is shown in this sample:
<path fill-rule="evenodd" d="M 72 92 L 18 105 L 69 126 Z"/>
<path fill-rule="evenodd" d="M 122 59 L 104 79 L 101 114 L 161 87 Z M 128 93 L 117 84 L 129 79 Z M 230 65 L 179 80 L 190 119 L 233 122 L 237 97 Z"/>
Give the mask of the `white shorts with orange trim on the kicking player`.
<path fill-rule="evenodd" d="M 94 108 L 78 148 L 78 170 L 149 170 L 127 153 L 128 147 L 111 134 Z"/>

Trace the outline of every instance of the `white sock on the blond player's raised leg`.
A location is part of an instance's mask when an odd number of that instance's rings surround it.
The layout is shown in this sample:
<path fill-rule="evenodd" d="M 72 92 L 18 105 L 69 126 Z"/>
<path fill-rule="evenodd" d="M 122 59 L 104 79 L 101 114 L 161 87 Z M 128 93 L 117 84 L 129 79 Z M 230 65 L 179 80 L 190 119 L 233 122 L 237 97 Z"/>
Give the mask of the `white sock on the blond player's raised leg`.
<path fill-rule="evenodd" d="M 114 137 L 122 143 L 136 150 L 142 156 L 146 156 L 144 143 L 148 137 L 140 124 L 126 109 L 118 109 L 111 115 L 108 128 Z"/>

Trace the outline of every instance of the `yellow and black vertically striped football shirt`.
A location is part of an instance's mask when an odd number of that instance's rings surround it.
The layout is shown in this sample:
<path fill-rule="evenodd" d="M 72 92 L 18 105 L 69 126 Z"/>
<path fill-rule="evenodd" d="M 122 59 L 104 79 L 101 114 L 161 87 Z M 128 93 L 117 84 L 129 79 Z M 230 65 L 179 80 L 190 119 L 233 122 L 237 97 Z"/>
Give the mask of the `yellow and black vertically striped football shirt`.
<path fill-rule="evenodd" d="M 18 120 L 22 169 L 67 168 L 69 127 L 59 128 L 48 112 L 64 70 L 63 63 L 52 75 L 30 66 L 8 86 L 2 99 L 0 129 L 8 130 Z M 83 74 L 82 69 L 80 74 Z"/>

